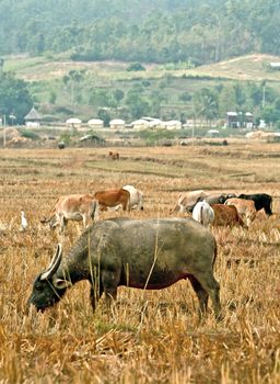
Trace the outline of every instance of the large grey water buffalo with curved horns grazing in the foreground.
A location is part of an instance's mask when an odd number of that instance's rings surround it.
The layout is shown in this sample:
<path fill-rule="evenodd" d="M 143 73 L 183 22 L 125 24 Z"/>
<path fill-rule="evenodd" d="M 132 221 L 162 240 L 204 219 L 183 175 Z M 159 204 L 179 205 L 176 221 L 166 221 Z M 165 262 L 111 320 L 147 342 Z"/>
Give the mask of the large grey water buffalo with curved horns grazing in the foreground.
<path fill-rule="evenodd" d="M 81 280 L 91 283 L 93 310 L 103 293 L 107 305 L 117 287 L 161 290 L 188 279 L 199 301 L 199 315 L 210 296 L 221 318 L 220 286 L 213 275 L 217 242 L 213 235 L 187 218 L 110 218 L 86 228 L 69 255 L 61 246 L 49 267 L 35 279 L 28 306 L 44 310 L 61 300 Z"/>

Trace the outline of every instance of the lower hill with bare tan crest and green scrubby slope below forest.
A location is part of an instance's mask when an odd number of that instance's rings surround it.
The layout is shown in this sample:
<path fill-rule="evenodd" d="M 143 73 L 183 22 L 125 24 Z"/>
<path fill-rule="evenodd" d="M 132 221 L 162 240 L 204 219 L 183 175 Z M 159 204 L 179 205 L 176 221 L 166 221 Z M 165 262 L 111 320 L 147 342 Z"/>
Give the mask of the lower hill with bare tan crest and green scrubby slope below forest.
<path fill-rule="evenodd" d="M 26 81 L 46 122 L 79 115 L 83 121 L 98 116 L 108 124 L 114 117 L 131 122 L 150 115 L 184 123 L 250 111 L 256 121 L 276 123 L 280 71 L 269 70 L 270 61 L 280 58 L 254 54 L 190 69 L 188 63 L 142 63 L 143 70 L 128 70 L 125 61 L 73 61 L 60 54 L 7 56 L 3 68 Z"/>

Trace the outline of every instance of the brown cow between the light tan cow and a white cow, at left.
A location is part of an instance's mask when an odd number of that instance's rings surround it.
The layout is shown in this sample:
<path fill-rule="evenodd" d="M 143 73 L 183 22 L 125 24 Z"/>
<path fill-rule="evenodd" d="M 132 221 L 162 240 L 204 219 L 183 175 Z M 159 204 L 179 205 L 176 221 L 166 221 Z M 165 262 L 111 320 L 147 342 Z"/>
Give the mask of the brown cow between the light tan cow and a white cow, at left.
<path fill-rule="evenodd" d="M 101 210 L 106 211 L 107 207 L 116 207 L 121 205 L 122 211 L 130 211 L 130 193 L 122 188 L 119 190 L 97 191 L 94 193 Z"/>

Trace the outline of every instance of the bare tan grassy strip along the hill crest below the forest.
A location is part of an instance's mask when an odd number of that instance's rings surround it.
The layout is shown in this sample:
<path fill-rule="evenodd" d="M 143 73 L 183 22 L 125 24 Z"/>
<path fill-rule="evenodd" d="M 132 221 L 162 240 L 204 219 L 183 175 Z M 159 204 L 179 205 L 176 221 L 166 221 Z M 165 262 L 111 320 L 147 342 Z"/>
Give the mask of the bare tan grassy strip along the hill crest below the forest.
<path fill-rule="evenodd" d="M 132 80 L 133 78 L 161 78 L 166 74 L 175 77 L 209 77 L 241 81 L 280 81 L 280 71 L 269 70 L 268 64 L 280 63 L 280 56 L 252 54 L 194 69 L 166 69 L 163 65 L 144 64 L 144 71 L 127 71 L 128 64 L 117 60 L 73 61 L 67 55 L 51 57 L 7 56 L 5 70 L 14 71 L 26 81 L 49 81 L 62 78 L 71 70 L 85 70 L 90 76 L 98 74 L 104 79 Z"/>

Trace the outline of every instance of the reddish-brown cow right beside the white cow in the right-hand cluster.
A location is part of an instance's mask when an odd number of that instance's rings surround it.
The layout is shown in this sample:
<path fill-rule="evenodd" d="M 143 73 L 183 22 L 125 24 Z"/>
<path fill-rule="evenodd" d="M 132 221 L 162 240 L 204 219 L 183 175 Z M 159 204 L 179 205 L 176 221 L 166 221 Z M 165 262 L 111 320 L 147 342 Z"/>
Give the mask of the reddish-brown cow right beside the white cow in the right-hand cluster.
<path fill-rule="evenodd" d="M 212 204 L 214 211 L 213 226 L 235 226 L 247 227 L 234 205 Z"/>

